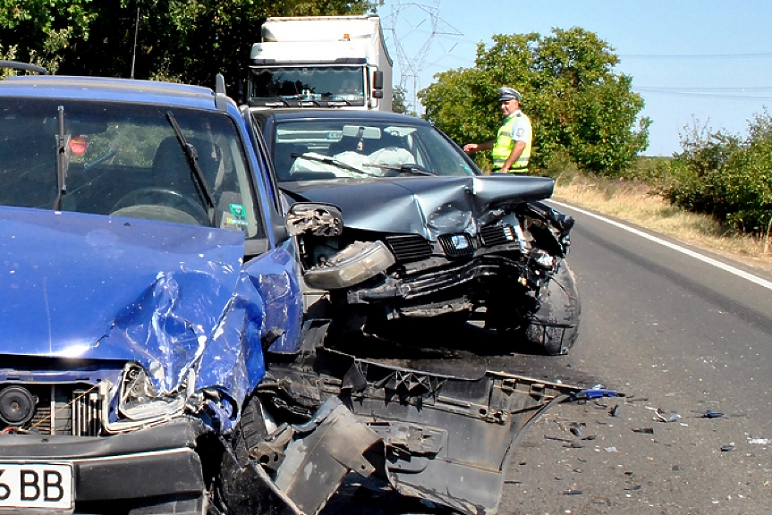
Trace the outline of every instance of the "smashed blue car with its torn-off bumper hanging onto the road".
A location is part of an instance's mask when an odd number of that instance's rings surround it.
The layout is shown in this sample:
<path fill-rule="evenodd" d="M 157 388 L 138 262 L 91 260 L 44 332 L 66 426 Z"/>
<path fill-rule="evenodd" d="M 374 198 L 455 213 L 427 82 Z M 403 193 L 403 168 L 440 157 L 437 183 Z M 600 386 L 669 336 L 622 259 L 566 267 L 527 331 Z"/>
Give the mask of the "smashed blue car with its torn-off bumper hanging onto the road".
<path fill-rule="evenodd" d="M 222 77 L 0 81 L 0 511 L 317 513 L 355 472 L 495 512 L 574 389 L 325 349 L 296 241 L 342 226 Z"/>

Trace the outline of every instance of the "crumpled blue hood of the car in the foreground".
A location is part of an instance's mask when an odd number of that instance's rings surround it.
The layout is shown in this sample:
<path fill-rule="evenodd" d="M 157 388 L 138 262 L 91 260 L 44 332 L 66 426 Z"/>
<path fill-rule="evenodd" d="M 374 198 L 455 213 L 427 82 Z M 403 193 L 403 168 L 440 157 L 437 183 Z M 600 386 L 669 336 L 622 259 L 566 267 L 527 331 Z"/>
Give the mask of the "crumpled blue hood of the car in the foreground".
<path fill-rule="evenodd" d="M 159 393 L 195 367 L 242 397 L 265 373 L 244 334 L 286 283 L 254 280 L 243 247 L 241 232 L 0 207 L 0 354 L 133 360 Z"/>

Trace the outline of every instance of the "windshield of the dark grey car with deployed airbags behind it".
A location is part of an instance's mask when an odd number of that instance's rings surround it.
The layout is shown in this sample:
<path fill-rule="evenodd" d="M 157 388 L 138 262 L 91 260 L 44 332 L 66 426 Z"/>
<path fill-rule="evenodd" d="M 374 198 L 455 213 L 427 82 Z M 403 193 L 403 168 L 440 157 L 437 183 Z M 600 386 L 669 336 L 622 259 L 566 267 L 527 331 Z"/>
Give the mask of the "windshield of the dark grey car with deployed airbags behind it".
<path fill-rule="evenodd" d="M 460 148 L 429 125 L 315 119 L 275 127 L 279 182 L 478 173 Z"/>

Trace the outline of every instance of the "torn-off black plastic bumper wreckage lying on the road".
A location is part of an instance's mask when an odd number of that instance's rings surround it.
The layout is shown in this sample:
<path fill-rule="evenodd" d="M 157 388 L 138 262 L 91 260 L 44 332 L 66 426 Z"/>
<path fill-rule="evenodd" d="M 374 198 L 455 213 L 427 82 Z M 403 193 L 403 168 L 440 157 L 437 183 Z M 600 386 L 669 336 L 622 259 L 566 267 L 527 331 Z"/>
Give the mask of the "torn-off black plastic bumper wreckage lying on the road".
<path fill-rule="evenodd" d="M 269 367 L 259 416 L 225 454 L 223 492 L 239 515 L 279 499 L 284 512 L 318 512 L 350 473 L 459 513 L 496 513 L 522 436 L 578 391 L 505 373 L 430 374 L 309 342 Z"/>

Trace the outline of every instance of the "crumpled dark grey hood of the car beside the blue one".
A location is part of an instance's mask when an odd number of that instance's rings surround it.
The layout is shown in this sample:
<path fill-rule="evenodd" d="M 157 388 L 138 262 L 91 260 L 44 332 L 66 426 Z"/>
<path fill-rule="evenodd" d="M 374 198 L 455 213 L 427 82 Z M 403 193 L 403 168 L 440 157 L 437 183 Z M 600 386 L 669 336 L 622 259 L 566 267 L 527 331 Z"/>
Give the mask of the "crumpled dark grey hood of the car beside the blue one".
<path fill-rule="evenodd" d="M 411 232 L 430 241 L 486 224 L 492 208 L 552 196 L 548 177 L 477 175 L 283 182 L 296 198 L 340 207 L 346 227 Z"/>

